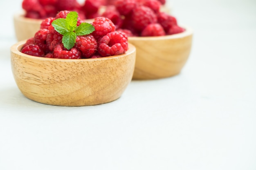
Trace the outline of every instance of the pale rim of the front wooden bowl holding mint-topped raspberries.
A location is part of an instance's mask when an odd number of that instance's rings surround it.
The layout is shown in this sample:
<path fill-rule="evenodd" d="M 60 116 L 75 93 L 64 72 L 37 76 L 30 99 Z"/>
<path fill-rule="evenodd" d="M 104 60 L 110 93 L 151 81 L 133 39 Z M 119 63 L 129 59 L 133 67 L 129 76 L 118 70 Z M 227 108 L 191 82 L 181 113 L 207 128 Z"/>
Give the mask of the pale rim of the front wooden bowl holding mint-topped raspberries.
<path fill-rule="evenodd" d="M 108 60 L 108 59 L 115 59 L 119 57 L 124 57 L 127 55 L 130 55 L 132 53 L 136 53 L 136 48 L 134 45 L 130 44 L 128 42 L 128 50 L 124 54 L 120 55 L 112 55 L 108 57 L 99 57 L 99 58 L 81 58 L 81 59 L 61 59 L 61 58 L 46 58 L 46 57 L 37 57 L 33 55 L 28 55 L 25 53 L 21 53 L 20 49 L 22 48 L 22 45 L 25 44 L 27 40 L 22 40 L 17 42 L 16 44 L 13 44 L 10 48 L 12 53 L 15 53 L 16 55 L 20 55 L 23 57 L 31 58 L 33 60 L 44 60 L 44 61 L 61 61 L 61 62 L 79 62 L 79 61 L 94 61 L 94 60 Z"/>

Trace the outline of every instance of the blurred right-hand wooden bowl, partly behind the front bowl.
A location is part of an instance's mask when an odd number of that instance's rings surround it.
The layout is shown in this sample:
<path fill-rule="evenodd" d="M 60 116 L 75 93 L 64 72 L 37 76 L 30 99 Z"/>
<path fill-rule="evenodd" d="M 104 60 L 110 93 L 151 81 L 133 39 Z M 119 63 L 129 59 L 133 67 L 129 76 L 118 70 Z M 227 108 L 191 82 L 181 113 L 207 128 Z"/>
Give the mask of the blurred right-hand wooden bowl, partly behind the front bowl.
<path fill-rule="evenodd" d="M 132 79 L 159 79 L 177 75 L 186 63 L 192 45 L 193 31 L 156 37 L 129 37 L 136 47 Z"/>

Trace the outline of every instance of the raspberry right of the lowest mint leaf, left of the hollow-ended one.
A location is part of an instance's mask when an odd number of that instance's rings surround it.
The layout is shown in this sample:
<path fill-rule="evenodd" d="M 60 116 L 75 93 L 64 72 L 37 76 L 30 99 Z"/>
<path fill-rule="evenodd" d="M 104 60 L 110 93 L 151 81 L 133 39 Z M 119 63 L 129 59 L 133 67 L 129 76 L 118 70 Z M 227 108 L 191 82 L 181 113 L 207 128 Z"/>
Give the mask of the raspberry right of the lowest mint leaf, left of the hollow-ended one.
<path fill-rule="evenodd" d="M 92 35 L 77 36 L 75 48 L 82 53 L 82 58 L 90 58 L 97 50 L 97 41 Z"/>

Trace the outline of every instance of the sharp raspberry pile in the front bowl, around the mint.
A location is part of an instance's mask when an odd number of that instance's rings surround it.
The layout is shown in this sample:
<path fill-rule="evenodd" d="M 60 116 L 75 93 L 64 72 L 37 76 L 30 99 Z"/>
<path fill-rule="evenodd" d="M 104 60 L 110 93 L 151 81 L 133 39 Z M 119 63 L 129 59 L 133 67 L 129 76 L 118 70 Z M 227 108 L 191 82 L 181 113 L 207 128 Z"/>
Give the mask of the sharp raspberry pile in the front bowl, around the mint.
<path fill-rule="evenodd" d="M 88 35 L 76 36 L 72 49 L 65 49 L 62 38 L 52 26 L 57 18 L 66 18 L 70 11 L 60 11 L 55 18 L 46 18 L 33 38 L 28 39 L 21 52 L 47 58 L 81 59 L 99 58 L 121 55 L 128 50 L 128 37 L 125 33 L 115 30 L 115 24 L 105 17 L 97 17 L 92 22 L 95 31 Z M 77 26 L 82 23 L 78 18 Z"/>

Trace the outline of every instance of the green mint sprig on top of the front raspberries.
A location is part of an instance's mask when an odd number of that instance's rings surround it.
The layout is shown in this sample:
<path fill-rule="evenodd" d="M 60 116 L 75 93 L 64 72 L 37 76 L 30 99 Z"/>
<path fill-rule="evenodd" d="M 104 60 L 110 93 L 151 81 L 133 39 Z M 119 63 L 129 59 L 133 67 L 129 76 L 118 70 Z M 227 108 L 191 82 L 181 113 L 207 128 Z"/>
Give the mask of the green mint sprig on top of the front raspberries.
<path fill-rule="evenodd" d="M 54 29 L 63 35 L 62 43 L 64 47 L 68 50 L 76 43 L 76 36 L 78 35 L 88 35 L 92 33 L 95 29 L 92 24 L 83 22 L 79 26 L 77 25 L 78 13 L 71 11 L 67 14 L 66 18 L 58 18 L 52 22 Z"/>

